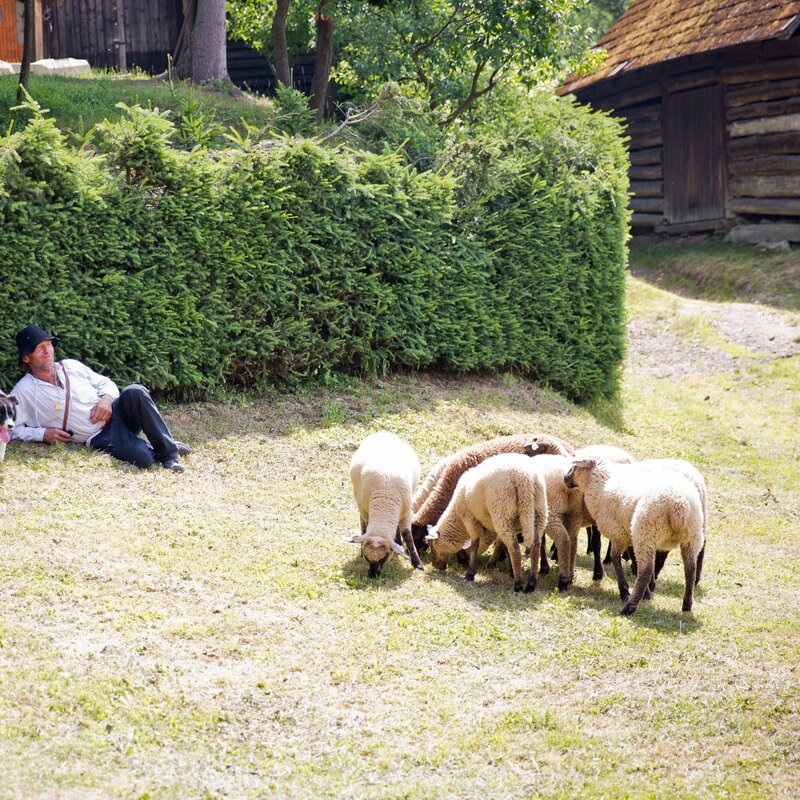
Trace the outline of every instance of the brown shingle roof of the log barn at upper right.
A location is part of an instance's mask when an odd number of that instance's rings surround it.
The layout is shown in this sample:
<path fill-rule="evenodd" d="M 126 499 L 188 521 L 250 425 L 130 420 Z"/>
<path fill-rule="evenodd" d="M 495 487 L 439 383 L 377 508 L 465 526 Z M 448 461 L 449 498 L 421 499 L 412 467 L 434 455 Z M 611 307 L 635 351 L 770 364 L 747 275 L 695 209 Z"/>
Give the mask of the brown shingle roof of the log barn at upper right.
<path fill-rule="evenodd" d="M 798 25 L 800 0 L 637 0 L 597 43 L 608 54 L 602 67 L 567 80 L 560 93 L 682 56 L 788 38 Z"/>

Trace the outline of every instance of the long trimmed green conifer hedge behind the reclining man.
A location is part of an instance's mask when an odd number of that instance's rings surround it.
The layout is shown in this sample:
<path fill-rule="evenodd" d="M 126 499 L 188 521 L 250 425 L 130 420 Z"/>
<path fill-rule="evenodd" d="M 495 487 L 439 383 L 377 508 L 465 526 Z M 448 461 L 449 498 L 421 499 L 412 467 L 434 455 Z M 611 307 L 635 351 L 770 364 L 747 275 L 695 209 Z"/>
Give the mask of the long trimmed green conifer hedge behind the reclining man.
<path fill-rule="evenodd" d="M 185 153 L 139 108 L 76 151 L 34 117 L 0 140 L 2 385 L 35 321 L 177 397 L 428 366 L 613 392 L 624 151 L 615 123 L 555 107 L 422 173 L 308 140 Z"/>

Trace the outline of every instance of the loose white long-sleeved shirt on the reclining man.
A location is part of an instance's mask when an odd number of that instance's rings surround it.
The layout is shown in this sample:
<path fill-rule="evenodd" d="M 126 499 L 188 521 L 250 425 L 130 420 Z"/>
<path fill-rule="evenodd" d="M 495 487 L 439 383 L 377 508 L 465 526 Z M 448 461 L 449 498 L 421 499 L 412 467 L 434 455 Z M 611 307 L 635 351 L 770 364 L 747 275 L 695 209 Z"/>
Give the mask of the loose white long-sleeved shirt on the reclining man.
<path fill-rule="evenodd" d="M 111 378 L 99 375 L 86 364 L 72 358 L 56 362 L 56 376 L 61 386 L 34 378 L 29 372 L 12 390 L 17 398 L 17 421 L 11 431 L 12 439 L 23 442 L 44 441 L 45 428 L 61 428 L 64 424 L 64 404 L 67 392 L 64 387 L 64 372 L 69 375 L 69 418 L 67 427 L 72 431 L 73 442 L 86 442 L 103 427 L 102 422 L 89 422 L 89 414 L 100 395 L 107 394 L 116 399 L 119 389 Z"/>

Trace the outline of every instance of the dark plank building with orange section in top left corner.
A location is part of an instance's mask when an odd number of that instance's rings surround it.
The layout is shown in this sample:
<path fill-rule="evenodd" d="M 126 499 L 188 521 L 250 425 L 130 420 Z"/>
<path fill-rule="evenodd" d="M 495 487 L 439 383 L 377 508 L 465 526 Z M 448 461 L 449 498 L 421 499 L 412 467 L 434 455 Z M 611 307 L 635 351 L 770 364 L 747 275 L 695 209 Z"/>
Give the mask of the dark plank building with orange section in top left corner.
<path fill-rule="evenodd" d="M 0 0 L 0 60 L 22 58 L 21 6 Z M 182 24 L 182 0 L 34 0 L 34 60 L 85 58 L 117 69 L 122 55 L 128 69 L 162 72 Z"/>

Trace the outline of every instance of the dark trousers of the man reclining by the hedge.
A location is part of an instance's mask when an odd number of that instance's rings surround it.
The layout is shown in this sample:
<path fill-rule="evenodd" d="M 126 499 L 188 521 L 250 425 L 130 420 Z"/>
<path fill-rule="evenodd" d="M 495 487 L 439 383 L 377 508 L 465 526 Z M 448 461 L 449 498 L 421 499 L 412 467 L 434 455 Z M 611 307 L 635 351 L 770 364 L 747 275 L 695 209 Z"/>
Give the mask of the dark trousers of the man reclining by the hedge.
<path fill-rule="evenodd" d="M 138 383 L 126 386 L 111 406 L 111 419 L 92 439 L 92 450 L 102 450 L 120 461 L 150 467 L 154 461 L 178 457 L 178 448 L 150 392 Z M 148 444 L 139 433 L 150 440 Z"/>

